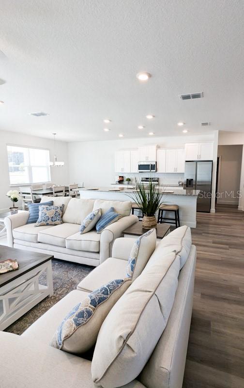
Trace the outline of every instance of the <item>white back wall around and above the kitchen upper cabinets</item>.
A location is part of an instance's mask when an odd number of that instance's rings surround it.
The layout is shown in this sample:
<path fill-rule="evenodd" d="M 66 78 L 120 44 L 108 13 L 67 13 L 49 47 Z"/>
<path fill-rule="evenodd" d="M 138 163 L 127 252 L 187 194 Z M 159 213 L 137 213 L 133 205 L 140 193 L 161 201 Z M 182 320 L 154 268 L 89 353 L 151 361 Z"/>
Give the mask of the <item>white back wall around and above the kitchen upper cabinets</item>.
<path fill-rule="evenodd" d="M 106 134 L 105 134 L 106 136 Z M 153 137 L 142 139 L 120 139 L 113 141 L 69 143 L 70 181 L 89 186 L 108 186 L 115 182 L 114 152 L 120 149 L 133 149 L 138 146 L 157 144 L 160 148 L 184 147 L 184 143 L 213 141 L 214 134 L 199 136 Z M 131 175 L 135 174 L 127 174 Z M 148 174 L 145 174 L 148 175 Z M 184 174 L 153 174 L 162 184 L 177 184 Z M 141 175 L 140 175 L 141 176 Z"/>

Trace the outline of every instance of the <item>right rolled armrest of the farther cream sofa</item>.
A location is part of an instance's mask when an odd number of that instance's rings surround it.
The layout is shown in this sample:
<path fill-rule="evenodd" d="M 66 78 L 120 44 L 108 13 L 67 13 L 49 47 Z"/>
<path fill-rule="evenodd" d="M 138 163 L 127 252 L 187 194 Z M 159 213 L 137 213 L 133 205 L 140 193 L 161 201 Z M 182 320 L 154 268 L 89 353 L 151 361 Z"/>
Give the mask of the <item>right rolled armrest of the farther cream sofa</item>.
<path fill-rule="evenodd" d="M 115 223 L 108 225 L 101 233 L 100 264 L 111 256 L 112 243 L 122 236 L 122 231 L 138 221 L 136 215 L 122 217 Z"/>

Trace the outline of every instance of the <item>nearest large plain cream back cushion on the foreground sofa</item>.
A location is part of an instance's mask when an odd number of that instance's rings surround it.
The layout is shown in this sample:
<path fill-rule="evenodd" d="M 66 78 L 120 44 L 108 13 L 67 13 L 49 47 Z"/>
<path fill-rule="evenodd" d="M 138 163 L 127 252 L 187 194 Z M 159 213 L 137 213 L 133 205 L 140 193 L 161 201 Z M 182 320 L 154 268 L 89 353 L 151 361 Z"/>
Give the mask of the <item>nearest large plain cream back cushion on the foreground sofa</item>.
<path fill-rule="evenodd" d="M 92 380 L 101 387 L 121 387 L 138 376 L 166 327 L 180 259 L 173 252 L 157 259 L 122 295 L 99 331 Z"/>

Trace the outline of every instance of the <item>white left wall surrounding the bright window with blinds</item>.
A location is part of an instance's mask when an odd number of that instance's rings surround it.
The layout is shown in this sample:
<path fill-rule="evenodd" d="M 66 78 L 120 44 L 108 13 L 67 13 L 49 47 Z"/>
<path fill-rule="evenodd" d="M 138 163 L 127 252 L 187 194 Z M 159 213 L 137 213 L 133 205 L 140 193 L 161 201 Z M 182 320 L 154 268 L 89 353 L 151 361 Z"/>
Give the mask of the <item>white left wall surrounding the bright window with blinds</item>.
<path fill-rule="evenodd" d="M 14 186 L 10 187 L 9 182 L 7 144 L 46 148 L 50 151 L 50 159 L 53 160 L 54 158 L 54 142 L 52 140 L 22 133 L 0 131 L 0 211 L 8 209 L 12 205 L 12 202 L 5 194 L 9 190 L 15 189 Z M 57 141 L 56 151 L 58 159 L 64 161 L 65 165 L 63 167 L 50 167 L 51 181 L 58 184 L 68 184 L 67 143 Z M 16 206 L 21 206 L 21 203 L 18 202 Z"/>

